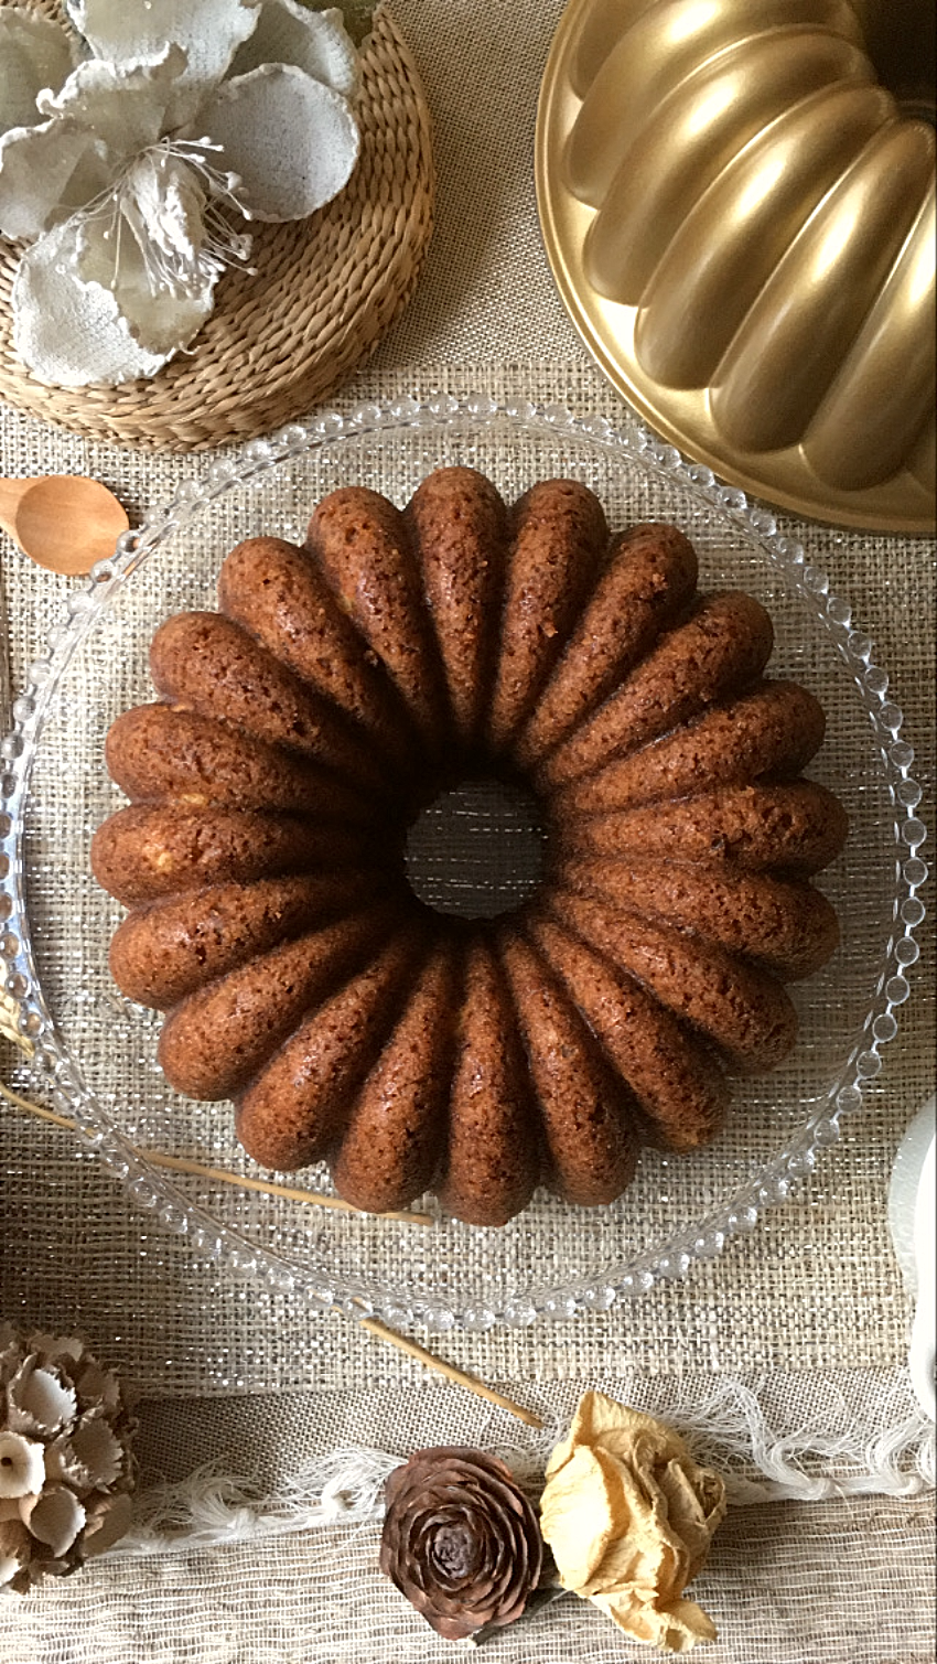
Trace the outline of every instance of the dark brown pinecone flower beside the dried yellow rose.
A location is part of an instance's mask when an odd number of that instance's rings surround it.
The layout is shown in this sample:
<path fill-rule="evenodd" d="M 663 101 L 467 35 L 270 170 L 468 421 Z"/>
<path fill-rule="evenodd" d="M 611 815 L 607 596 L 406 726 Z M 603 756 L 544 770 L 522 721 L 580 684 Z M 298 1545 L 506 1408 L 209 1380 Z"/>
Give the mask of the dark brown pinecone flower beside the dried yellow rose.
<path fill-rule="evenodd" d="M 381 1571 L 439 1636 L 464 1641 L 521 1616 L 543 1539 L 503 1461 L 461 1446 L 416 1451 L 384 1496 Z"/>

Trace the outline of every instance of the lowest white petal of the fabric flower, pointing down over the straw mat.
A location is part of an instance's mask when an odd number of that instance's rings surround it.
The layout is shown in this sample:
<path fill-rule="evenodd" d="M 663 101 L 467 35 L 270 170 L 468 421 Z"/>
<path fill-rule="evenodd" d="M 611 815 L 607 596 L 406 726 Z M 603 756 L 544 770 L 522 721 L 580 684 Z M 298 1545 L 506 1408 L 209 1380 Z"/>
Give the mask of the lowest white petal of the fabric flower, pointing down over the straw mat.
<path fill-rule="evenodd" d="M 78 215 L 67 220 L 27 250 L 13 283 L 15 348 L 42 381 L 55 386 L 117 386 L 155 376 L 215 305 L 210 283 L 195 298 L 166 295 L 153 301 L 130 260 L 130 276 L 117 293 L 102 281 L 85 281 L 77 275 L 78 236 L 85 238 L 85 258 L 93 233 Z M 108 246 L 97 255 L 103 271 Z"/>

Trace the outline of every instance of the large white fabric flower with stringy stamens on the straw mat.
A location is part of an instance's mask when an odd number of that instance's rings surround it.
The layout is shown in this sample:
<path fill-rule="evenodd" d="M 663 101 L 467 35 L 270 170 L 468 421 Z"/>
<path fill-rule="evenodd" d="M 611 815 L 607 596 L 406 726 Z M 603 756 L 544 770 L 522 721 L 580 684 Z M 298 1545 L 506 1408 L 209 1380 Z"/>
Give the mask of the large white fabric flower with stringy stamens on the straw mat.
<path fill-rule="evenodd" d="M 341 12 L 298 0 L 67 0 L 65 30 L 0 8 L 0 231 L 27 248 L 13 339 L 58 386 L 153 376 L 198 333 L 236 218 L 303 220 L 358 161 Z"/>

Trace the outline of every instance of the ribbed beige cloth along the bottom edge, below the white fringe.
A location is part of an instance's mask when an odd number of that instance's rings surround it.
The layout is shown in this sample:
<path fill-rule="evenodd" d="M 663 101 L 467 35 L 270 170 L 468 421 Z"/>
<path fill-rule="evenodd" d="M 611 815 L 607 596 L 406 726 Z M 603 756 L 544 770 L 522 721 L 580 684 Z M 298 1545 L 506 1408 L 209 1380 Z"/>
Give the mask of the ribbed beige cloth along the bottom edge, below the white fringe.
<path fill-rule="evenodd" d="M 782 1518 L 779 1518 L 782 1514 Z M 704 1664 L 932 1664 L 934 1514 L 869 1499 L 731 1516 L 692 1584 L 719 1627 Z M 444 1664 L 441 1642 L 374 1574 L 378 1529 L 113 1561 L 3 1617 L 2 1664 Z M 93 1616 L 88 1616 L 93 1601 Z M 568 1596 L 498 1637 L 503 1664 L 647 1664 Z M 483 1654 L 484 1657 L 484 1654 Z"/>

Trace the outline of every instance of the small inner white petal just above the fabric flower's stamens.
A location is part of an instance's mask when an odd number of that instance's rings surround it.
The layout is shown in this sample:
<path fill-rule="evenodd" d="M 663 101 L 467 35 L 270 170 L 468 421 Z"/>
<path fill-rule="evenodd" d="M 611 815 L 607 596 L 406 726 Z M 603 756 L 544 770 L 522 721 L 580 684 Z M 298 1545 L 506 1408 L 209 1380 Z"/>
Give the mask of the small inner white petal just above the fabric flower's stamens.
<path fill-rule="evenodd" d="M 58 93 L 40 100 L 40 110 L 95 133 L 117 160 L 135 156 L 166 131 L 166 111 L 185 67 L 185 52 L 175 45 L 148 62 L 88 58 Z"/>

